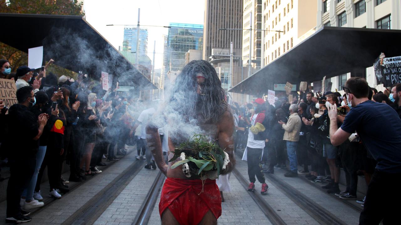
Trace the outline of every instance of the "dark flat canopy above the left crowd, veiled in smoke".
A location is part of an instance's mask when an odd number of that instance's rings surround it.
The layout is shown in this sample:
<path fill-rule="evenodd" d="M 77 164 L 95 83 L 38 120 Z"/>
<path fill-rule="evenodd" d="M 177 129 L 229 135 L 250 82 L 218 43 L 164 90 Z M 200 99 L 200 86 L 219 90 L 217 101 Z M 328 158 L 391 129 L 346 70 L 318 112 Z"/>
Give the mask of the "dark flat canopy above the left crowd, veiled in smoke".
<path fill-rule="evenodd" d="M 123 86 L 157 88 L 81 16 L 0 13 L 0 20 L 8 31 L 0 32 L 4 44 L 23 52 L 43 46 L 45 60 L 74 72 L 99 78 L 104 71 Z"/>

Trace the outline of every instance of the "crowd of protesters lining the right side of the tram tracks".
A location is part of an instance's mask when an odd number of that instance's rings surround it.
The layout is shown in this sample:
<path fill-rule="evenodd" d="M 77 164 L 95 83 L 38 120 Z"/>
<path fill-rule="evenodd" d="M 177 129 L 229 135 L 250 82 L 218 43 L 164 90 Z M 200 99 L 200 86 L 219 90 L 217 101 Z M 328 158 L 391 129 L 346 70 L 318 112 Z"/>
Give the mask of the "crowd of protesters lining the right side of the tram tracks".
<path fill-rule="evenodd" d="M 363 84 L 365 83 L 366 81 Z M 327 193 L 343 200 L 356 200 L 362 207 L 364 206 L 365 197 L 359 196 L 357 199 L 356 195 L 358 175 L 362 175 L 366 185 L 369 185 L 383 159 L 368 151 L 367 145 L 370 143 L 364 143 L 367 141 L 363 141 L 356 130 L 352 131 L 343 143 L 332 144 L 328 115 L 330 106 L 338 107 L 336 126 L 341 127 L 354 104 L 349 102 L 347 96 L 350 94 L 346 87 L 344 92 L 343 95 L 339 92 L 322 94 L 309 90 L 300 92 L 298 98 L 290 102 L 286 97 L 276 97 L 274 104 L 269 104 L 262 98 L 257 98 L 253 103 L 243 106 L 235 103 L 231 106 L 237 129 L 236 147 L 244 149 L 243 159 L 247 160 L 248 164 L 251 182 L 249 191 L 255 190 L 256 177 L 262 184 L 261 194 L 267 193 L 268 186 L 263 173 L 273 174 L 275 169 L 286 169 L 288 160 L 289 170 L 284 176 L 298 177 L 302 174 L 311 182 L 321 184 L 321 188 Z M 395 84 L 385 92 L 369 88 L 366 100 L 368 103 L 388 105 L 385 107 L 386 115 L 391 118 L 390 116 L 398 114 L 392 123 L 401 123 L 401 84 Z M 381 120 L 381 113 L 376 113 L 378 120 Z M 375 118 L 375 115 L 369 117 Z M 363 123 L 363 120 L 360 123 Z M 401 127 L 398 128 L 400 129 Z M 386 131 L 368 132 L 375 134 Z M 394 133 L 391 134 L 396 135 L 393 142 L 401 142 L 398 140 L 401 134 Z M 380 142 L 381 139 L 377 141 Z M 400 156 L 399 149 L 399 146 L 398 149 L 389 149 L 389 154 L 395 158 L 393 162 L 395 164 L 397 157 Z M 346 188 L 343 190 L 340 190 L 338 185 L 340 168 L 344 170 L 346 180 Z"/>

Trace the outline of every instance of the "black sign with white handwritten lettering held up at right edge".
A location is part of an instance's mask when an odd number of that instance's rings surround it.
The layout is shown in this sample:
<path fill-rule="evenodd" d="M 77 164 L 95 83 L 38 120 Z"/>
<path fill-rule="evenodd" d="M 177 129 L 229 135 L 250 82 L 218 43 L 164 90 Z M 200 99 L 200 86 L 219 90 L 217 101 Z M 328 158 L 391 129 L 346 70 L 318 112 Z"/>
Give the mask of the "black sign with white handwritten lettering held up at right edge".
<path fill-rule="evenodd" d="M 377 58 L 373 64 L 375 69 L 377 83 L 383 83 L 385 87 L 391 87 L 393 84 L 401 83 L 401 56 Z"/>

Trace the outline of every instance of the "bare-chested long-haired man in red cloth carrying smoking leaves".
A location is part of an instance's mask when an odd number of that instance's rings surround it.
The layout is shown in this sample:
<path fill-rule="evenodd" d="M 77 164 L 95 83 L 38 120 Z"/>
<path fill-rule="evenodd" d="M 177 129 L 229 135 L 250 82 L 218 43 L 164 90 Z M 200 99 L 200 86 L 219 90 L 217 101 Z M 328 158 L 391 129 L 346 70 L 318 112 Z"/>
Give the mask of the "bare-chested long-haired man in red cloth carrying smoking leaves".
<path fill-rule="evenodd" d="M 193 124 L 200 128 L 203 135 L 211 140 L 217 139 L 221 149 L 229 155 L 230 163 L 221 174 L 229 173 L 235 165 L 233 115 L 215 68 L 205 60 L 191 61 L 177 76 L 171 91 L 162 110 L 156 113 L 163 115 L 169 127 L 169 150 L 174 151 L 180 142 L 186 141 L 182 133 L 186 125 Z M 186 177 L 182 166 L 171 169 L 179 158 L 166 165 L 157 127 L 160 126 L 148 125 L 146 138 L 158 168 L 167 177 L 159 204 L 162 224 L 217 224 L 221 215 L 221 197 L 216 181 Z M 169 159 L 173 156 L 169 153 Z"/>

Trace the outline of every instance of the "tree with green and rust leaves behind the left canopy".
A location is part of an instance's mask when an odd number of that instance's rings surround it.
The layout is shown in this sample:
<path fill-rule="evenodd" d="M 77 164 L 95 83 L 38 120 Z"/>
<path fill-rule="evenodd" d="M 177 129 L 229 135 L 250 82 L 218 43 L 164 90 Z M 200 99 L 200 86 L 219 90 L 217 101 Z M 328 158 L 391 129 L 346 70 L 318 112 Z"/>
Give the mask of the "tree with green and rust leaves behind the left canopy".
<path fill-rule="evenodd" d="M 83 2 L 77 0 L 0 0 L 0 13 L 85 16 L 82 6 Z M 10 61 L 13 72 L 16 72 L 19 66 L 28 64 L 27 53 L 2 42 L 0 58 Z"/>

